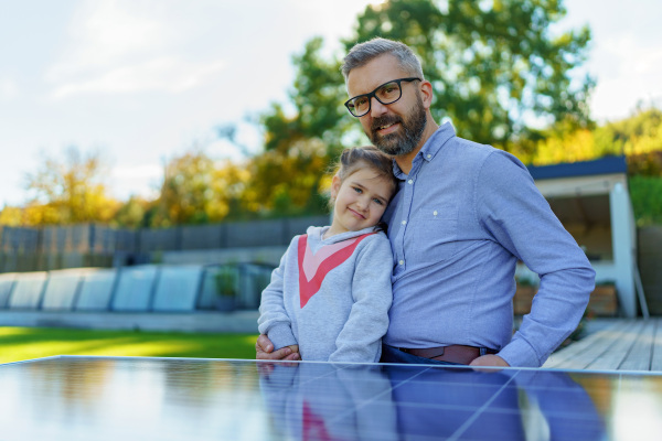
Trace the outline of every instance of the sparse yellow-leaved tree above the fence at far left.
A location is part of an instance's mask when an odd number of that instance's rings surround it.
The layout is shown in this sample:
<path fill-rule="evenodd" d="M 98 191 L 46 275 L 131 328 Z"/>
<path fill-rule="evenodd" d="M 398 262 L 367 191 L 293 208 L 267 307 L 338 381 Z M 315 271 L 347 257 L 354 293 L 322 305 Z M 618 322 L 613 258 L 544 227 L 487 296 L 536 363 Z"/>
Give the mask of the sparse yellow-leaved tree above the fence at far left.
<path fill-rule="evenodd" d="M 24 207 L 25 225 L 68 225 L 108 222 L 119 203 L 108 195 L 106 169 L 98 151 L 81 153 L 76 147 L 62 160 L 44 155 L 34 174 L 26 174 L 33 197 Z"/>

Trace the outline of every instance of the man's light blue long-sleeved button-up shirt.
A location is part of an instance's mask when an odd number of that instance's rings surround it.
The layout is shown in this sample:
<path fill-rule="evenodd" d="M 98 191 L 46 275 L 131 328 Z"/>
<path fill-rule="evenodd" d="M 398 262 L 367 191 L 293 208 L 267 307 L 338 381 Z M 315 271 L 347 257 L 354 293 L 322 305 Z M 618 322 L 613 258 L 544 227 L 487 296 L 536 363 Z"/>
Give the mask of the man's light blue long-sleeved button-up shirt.
<path fill-rule="evenodd" d="M 515 157 L 442 125 L 413 161 L 384 219 L 394 255 L 384 343 L 490 347 L 511 366 L 542 366 L 576 329 L 595 271 Z M 517 260 L 538 273 L 513 335 Z"/>

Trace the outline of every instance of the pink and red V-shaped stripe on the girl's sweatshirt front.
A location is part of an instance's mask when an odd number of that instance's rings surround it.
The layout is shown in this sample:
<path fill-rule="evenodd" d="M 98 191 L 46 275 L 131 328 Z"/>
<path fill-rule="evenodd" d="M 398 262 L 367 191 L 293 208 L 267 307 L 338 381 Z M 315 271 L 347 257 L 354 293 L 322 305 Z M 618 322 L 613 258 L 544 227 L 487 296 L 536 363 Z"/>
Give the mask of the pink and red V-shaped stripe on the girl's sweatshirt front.
<path fill-rule="evenodd" d="M 324 246 L 320 249 L 318 256 L 313 255 L 308 246 L 308 235 L 299 237 L 299 300 L 301 308 L 306 306 L 308 301 L 317 294 L 329 271 L 348 260 L 356 249 L 359 243 L 373 234 L 369 233 L 338 244 Z M 339 247 L 339 245 L 341 246 Z M 324 250 L 327 247 L 333 248 Z"/>

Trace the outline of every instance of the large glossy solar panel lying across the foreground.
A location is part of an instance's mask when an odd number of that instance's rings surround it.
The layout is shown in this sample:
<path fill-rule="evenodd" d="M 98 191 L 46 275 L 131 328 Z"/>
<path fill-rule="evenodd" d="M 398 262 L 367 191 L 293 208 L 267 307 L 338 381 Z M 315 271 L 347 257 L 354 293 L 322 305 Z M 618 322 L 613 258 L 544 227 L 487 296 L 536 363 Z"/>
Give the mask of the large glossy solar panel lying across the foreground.
<path fill-rule="evenodd" d="M 662 376 L 60 356 L 0 365 L 0 440 L 653 440 Z"/>

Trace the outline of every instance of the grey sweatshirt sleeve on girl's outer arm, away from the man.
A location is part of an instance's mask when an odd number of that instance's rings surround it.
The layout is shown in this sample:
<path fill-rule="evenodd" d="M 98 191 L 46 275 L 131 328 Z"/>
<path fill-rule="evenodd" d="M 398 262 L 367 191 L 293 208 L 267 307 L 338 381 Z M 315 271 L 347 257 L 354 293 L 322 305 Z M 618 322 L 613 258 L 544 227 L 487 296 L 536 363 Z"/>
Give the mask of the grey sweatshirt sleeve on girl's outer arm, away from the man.
<path fill-rule="evenodd" d="M 280 258 L 280 265 L 271 272 L 271 281 L 261 293 L 257 329 L 260 334 L 267 334 L 274 349 L 298 344 L 292 332 L 291 319 L 285 309 L 284 275 L 290 252 L 297 251 L 299 236 L 296 236 L 287 251 Z"/>

